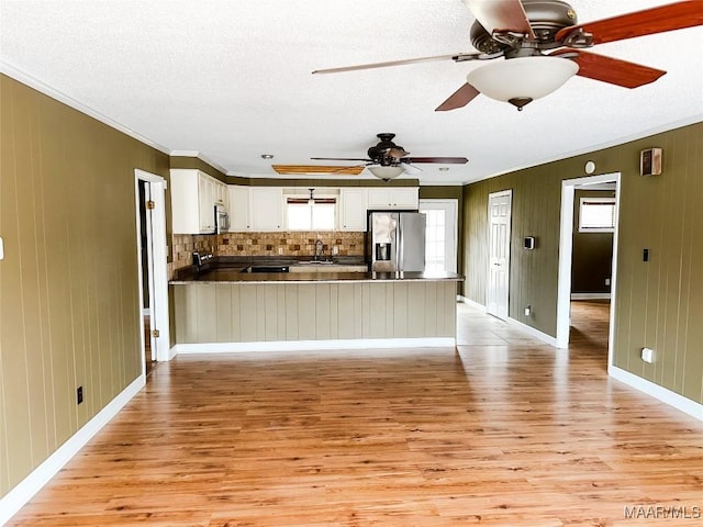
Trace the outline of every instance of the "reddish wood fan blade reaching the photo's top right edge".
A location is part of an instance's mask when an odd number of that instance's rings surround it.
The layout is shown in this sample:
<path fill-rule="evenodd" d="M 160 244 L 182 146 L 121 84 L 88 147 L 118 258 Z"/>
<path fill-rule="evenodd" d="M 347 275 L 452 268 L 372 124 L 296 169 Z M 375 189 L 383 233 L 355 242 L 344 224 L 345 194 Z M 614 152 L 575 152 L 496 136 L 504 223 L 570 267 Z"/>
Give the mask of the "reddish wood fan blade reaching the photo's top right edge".
<path fill-rule="evenodd" d="M 568 38 L 570 33 L 583 30 L 593 35 L 593 44 L 603 44 L 696 25 L 703 25 L 703 0 L 676 2 L 585 24 L 571 25 L 557 32 L 555 38 L 557 42 L 562 42 Z"/>

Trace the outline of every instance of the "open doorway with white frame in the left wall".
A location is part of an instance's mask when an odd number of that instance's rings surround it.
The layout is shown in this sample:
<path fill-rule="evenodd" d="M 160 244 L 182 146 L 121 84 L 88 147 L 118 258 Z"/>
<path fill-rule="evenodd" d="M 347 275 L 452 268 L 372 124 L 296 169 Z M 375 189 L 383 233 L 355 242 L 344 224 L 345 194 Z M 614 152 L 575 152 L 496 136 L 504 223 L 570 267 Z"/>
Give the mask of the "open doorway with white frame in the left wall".
<path fill-rule="evenodd" d="M 141 341 L 145 373 L 153 361 L 171 358 L 165 190 L 164 178 L 135 170 L 140 326 L 144 327 Z"/>

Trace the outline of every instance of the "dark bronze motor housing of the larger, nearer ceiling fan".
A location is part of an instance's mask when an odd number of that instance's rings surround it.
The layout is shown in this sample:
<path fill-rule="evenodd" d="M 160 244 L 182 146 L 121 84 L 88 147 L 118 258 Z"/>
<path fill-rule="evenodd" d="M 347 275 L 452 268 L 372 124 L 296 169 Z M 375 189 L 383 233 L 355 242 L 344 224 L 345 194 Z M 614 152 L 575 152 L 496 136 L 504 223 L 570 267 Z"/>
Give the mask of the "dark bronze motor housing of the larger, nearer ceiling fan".
<path fill-rule="evenodd" d="M 535 33 L 537 49 L 559 47 L 561 44 L 555 42 L 557 32 L 578 23 L 573 8 L 561 0 L 522 0 L 522 3 Z M 473 47 L 481 53 L 495 54 L 511 48 L 493 38 L 478 21 L 471 25 L 469 36 Z"/>

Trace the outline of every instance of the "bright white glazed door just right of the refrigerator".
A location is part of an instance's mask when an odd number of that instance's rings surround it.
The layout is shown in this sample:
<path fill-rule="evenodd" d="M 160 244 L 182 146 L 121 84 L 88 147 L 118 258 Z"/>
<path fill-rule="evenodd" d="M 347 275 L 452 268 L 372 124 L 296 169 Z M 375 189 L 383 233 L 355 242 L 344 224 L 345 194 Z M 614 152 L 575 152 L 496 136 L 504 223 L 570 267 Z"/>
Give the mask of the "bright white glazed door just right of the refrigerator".
<path fill-rule="evenodd" d="M 457 200 L 420 200 L 426 214 L 425 270 L 457 272 Z"/>

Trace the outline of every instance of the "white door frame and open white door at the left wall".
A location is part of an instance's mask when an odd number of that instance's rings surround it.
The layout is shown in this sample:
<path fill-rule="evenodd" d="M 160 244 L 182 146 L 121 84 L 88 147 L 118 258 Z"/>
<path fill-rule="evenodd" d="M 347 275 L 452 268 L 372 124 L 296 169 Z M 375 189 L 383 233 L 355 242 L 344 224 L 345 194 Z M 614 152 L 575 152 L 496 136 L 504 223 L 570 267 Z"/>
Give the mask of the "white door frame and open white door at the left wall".
<path fill-rule="evenodd" d="M 147 251 L 149 280 L 149 307 L 152 327 L 159 330 L 158 337 L 153 337 L 152 350 L 156 350 L 155 359 L 157 361 L 166 361 L 174 358 L 170 352 L 170 336 L 168 322 L 168 266 L 167 266 L 167 244 L 166 244 L 166 188 L 167 181 L 160 176 L 146 172 L 138 168 L 134 169 L 134 195 L 136 204 L 136 234 L 137 234 L 137 276 L 138 276 L 138 299 L 140 299 L 140 324 L 143 327 L 142 309 L 144 306 L 144 269 L 142 268 L 142 220 L 140 217 L 140 181 L 148 184 L 148 193 L 155 208 L 150 214 L 152 228 L 147 229 L 147 244 L 152 247 Z M 145 356 L 146 343 L 144 339 L 144 330 L 140 330 L 141 357 Z M 154 351 L 152 351 L 154 354 Z M 144 362 L 144 361 L 142 361 Z M 143 363 L 143 372 L 146 366 Z"/>

